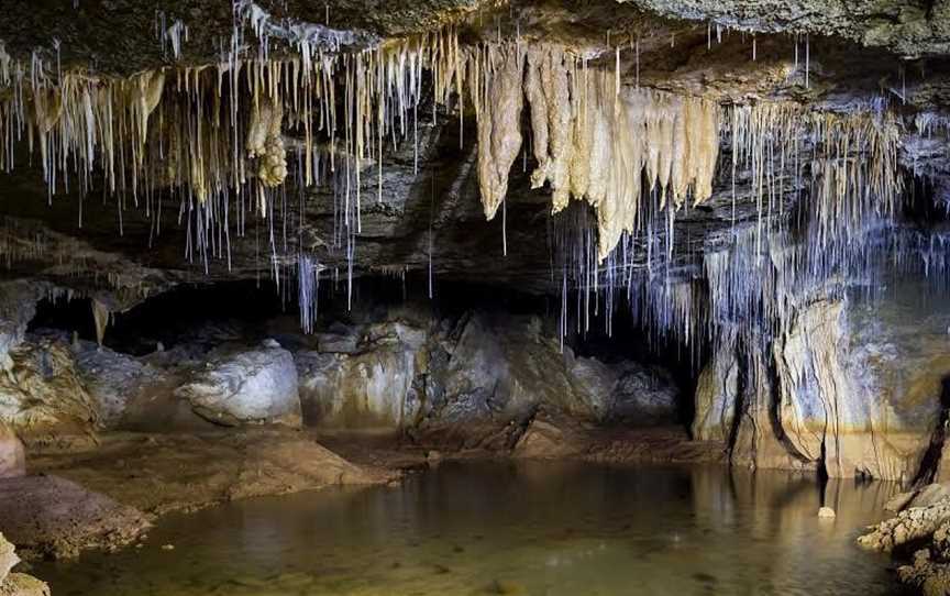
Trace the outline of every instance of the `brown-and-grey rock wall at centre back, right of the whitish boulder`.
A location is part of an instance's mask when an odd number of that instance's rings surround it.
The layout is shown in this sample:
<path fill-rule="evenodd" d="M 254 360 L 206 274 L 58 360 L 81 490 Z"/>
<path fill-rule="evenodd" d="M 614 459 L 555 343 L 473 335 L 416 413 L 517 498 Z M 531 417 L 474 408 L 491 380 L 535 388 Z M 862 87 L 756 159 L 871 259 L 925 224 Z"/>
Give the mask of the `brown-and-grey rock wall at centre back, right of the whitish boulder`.
<path fill-rule="evenodd" d="M 391 319 L 296 354 L 309 424 L 407 429 L 507 422 L 539 407 L 592 421 L 671 423 L 677 393 L 656 371 L 561 352 L 534 317 Z"/>

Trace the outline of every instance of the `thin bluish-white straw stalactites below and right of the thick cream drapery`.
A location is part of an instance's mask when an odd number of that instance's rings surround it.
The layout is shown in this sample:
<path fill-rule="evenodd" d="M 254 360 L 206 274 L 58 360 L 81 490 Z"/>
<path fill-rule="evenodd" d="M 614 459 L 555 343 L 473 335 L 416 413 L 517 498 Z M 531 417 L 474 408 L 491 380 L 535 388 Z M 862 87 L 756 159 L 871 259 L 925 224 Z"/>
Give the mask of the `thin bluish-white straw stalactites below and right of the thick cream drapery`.
<path fill-rule="evenodd" d="M 907 249 L 906 233 L 899 243 L 888 234 L 904 187 L 894 115 L 762 101 L 723 106 L 717 120 L 716 139 L 726 150 L 717 174 L 720 199 L 731 194 L 733 209 L 736 201 L 754 201 L 755 218 L 733 219 L 725 238 L 712 234 L 689 254 L 688 241 L 677 245 L 674 236 L 675 201 L 645 178 L 639 225 L 623 230 L 606 255 L 586 232 L 589 218 L 566 222 L 555 238 L 562 319 L 576 318 L 577 331 L 589 328 L 593 311 L 610 332 L 614 309 L 626 302 L 656 341 L 715 342 L 737 321 L 767 341 L 787 321 L 795 291 L 832 278 L 868 278 L 885 253 L 905 261 L 932 254 Z M 796 211 L 786 212 L 789 206 Z M 603 216 L 597 212 L 601 230 Z M 567 309 L 568 290 L 576 290 L 576 312 Z"/>

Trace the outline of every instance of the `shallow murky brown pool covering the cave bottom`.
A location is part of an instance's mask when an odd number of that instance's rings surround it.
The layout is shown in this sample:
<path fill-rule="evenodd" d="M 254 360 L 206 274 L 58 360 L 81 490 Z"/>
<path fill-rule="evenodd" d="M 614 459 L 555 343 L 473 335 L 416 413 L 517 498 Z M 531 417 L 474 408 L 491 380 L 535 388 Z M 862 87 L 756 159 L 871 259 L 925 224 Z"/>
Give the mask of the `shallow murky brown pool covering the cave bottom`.
<path fill-rule="evenodd" d="M 396 487 L 169 516 L 142 548 L 34 573 L 56 596 L 873 596 L 896 588 L 888 561 L 854 537 L 894 490 L 720 467 L 446 463 Z M 822 504 L 838 517 L 818 519 Z"/>

